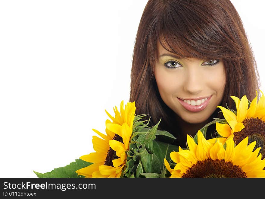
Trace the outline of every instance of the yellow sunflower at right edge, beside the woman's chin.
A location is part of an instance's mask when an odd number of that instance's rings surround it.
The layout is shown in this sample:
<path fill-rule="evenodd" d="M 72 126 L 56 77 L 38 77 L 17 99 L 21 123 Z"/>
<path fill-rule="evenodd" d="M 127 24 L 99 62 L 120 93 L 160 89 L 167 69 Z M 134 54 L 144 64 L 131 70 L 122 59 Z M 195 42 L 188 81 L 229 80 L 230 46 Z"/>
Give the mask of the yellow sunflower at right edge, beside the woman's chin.
<path fill-rule="evenodd" d="M 262 159 L 265 158 L 265 97 L 263 95 L 257 102 L 257 95 L 248 103 L 244 95 L 241 100 L 235 96 L 231 98 L 235 101 L 236 111 L 232 112 L 222 106 L 220 108 L 228 124 L 216 123 L 216 130 L 222 137 L 232 138 L 235 144 L 241 142 L 248 136 L 248 142 L 256 141 L 254 149 L 261 147 Z M 257 93 L 257 91 L 256 91 Z"/>

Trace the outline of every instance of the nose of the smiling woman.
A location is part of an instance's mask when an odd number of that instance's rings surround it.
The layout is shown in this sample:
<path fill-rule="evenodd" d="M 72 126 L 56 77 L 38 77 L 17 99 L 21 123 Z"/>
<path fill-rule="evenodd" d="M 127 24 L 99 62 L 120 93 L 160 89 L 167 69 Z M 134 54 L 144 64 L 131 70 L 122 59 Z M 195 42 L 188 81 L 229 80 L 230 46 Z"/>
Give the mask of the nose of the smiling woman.
<path fill-rule="evenodd" d="M 203 89 L 204 77 L 198 67 L 189 68 L 185 74 L 184 90 L 191 94 L 199 94 Z"/>

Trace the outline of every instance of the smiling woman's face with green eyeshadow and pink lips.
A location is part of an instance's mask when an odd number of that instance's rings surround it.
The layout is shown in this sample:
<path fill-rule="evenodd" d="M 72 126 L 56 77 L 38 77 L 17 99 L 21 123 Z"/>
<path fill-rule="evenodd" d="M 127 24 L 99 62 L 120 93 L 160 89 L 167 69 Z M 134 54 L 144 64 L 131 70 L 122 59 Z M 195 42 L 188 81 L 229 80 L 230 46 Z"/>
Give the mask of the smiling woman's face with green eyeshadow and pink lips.
<path fill-rule="evenodd" d="M 224 64 L 214 58 L 179 59 L 159 43 L 154 76 L 162 100 L 188 123 L 206 121 L 223 99 Z"/>

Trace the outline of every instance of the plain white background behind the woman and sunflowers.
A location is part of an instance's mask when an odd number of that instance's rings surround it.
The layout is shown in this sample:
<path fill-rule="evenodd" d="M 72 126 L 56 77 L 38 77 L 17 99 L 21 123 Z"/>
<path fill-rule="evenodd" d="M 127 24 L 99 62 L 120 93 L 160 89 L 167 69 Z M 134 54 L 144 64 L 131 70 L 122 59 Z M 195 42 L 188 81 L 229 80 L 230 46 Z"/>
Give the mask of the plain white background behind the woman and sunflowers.
<path fill-rule="evenodd" d="M 1 178 L 36 178 L 33 170 L 49 172 L 94 152 L 92 128 L 104 133 L 104 109 L 113 114 L 129 100 L 146 3 L 0 0 Z M 265 4 L 232 3 L 263 80 Z"/>

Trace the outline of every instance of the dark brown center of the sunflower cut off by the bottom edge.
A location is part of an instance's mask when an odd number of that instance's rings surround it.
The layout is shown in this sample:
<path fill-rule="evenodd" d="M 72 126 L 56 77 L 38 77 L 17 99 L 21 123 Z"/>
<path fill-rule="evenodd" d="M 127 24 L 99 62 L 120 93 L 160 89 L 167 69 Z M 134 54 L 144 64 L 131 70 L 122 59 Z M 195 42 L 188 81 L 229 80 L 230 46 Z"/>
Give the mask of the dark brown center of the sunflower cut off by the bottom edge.
<path fill-rule="evenodd" d="M 182 178 L 247 178 L 247 175 L 232 162 L 208 158 L 192 165 Z"/>

